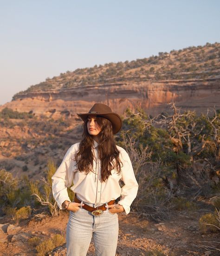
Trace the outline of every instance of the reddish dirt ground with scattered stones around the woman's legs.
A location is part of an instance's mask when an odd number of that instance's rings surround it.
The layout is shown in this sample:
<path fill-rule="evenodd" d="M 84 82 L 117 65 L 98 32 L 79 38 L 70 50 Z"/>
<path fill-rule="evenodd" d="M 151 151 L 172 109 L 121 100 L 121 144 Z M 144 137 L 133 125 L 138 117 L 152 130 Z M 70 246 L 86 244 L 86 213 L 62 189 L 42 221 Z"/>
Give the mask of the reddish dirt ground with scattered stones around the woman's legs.
<path fill-rule="evenodd" d="M 140 217 L 137 213 L 125 216 L 119 214 L 119 237 L 116 256 L 217 256 L 213 248 L 220 248 L 220 233 L 201 234 L 198 219 L 201 211 L 177 211 L 164 222 L 153 222 Z M 28 244 L 30 237 L 47 239 L 54 234 L 65 236 L 69 212 L 61 211 L 57 217 L 44 216 L 19 221 L 16 224 L 1 218 L 1 225 L 9 224 L 1 240 L 0 256 L 33 256 L 37 251 Z M 13 226 L 14 225 L 14 226 Z M 1 238 L 3 235 L 1 236 Z M 3 239 L 3 238 L 2 238 Z M 209 247 L 208 247 L 209 246 Z M 88 256 L 94 255 L 91 241 Z M 65 244 L 53 250 L 50 255 L 65 256 Z"/>

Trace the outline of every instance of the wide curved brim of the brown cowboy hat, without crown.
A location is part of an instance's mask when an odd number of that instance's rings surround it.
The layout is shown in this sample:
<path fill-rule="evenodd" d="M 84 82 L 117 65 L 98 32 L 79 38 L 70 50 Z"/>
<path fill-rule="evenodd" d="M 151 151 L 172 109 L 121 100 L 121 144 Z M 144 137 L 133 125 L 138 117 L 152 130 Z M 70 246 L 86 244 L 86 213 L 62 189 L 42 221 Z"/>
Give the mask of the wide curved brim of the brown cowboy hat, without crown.
<path fill-rule="evenodd" d="M 113 134 L 118 133 L 122 128 L 122 119 L 117 113 L 106 113 L 106 114 L 93 114 L 93 113 L 85 113 L 85 114 L 77 114 L 84 122 L 87 120 L 88 115 L 100 115 L 104 118 L 108 119 L 112 123 L 112 132 Z"/>

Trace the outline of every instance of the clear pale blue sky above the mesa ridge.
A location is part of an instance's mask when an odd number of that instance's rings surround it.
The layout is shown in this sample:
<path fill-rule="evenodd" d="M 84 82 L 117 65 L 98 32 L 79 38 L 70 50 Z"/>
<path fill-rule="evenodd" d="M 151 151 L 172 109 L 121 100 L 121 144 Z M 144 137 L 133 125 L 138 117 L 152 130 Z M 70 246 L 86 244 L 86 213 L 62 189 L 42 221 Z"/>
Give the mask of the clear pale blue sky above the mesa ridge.
<path fill-rule="evenodd" d="M 219 0 L 0 0 L 0 105 L 67 70 L 220 42 Z"/>

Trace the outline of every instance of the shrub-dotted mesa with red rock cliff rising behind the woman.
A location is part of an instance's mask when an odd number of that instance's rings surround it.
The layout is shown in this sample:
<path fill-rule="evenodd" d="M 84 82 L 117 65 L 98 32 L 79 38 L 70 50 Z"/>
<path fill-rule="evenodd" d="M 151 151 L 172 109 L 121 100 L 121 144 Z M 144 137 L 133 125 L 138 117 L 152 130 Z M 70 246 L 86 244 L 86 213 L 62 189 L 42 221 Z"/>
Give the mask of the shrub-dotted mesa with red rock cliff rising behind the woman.
<path fill-rule="evenodd" d="M 123 114 L 140 106 L 150 115 L 169 111 L 167 103 L 205 113 L 220 108 L 220 43 L 188 47 L 47 78 L 0 107 L 55 119 L 75 117 L 103 102 Z"/>

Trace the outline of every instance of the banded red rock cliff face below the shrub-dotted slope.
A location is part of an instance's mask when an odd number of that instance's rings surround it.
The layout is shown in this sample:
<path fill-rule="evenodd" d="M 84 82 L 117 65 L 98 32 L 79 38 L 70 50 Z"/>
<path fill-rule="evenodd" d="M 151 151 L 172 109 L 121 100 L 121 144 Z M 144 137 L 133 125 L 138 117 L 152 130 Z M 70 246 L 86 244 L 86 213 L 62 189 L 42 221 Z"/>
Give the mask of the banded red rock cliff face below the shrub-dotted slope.
<path fill-rule="evenodd" d="M 107 104 L 119 114 L 127 107 L 142 107 L 149 114 L 169 111 L 168 103 L 185 110 L 206 113 L 207 108 L 220 109 L 220 79 L 144 81 L 91 85 L 70 89 L 39 91 L 20 94 L 14 101 L 0 107 L 17 111 L 33 111 L 53 118 L 86 113 L 95 102 Z"/>

